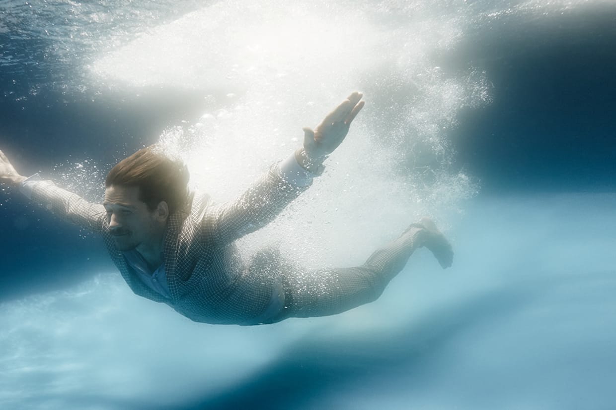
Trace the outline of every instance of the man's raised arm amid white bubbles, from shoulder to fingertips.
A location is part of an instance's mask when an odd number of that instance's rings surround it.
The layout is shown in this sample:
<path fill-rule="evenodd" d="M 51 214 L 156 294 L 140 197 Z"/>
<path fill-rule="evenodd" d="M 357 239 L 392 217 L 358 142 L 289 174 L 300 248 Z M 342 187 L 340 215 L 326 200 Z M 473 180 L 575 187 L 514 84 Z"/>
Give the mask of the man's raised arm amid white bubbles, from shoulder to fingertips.
<path fill-rule="evenodd" d="M 206 209 L 203 229 L 217 243 L 232 242 L 272 221 L 286 205 L 306 191 L 322 163 L 344 140 L 352 120 L 363 108 L 354 92 L 312 130 L 304 128 L 304 144 L 291 159 L 274 165 L 238 200 Z"/>

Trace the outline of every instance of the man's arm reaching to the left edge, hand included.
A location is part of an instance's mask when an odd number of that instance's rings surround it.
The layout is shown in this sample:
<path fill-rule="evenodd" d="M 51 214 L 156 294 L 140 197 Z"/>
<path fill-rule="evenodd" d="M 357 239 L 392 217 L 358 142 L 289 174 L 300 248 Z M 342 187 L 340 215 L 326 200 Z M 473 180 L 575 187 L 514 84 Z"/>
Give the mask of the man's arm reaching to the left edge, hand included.
<path fill-rule="evenodd" d="M 100 232 L 105 222 L 105 208 L 89 203 L 77 194 L 55 186 L 51 181 L 28 179 L 20 175 L 0 151 L 0 183 L 20 188 L 28 198 L 60 218 L 78 224 L 89 231 Z M 26 185 L 25 185 L 26 184 Z"/>

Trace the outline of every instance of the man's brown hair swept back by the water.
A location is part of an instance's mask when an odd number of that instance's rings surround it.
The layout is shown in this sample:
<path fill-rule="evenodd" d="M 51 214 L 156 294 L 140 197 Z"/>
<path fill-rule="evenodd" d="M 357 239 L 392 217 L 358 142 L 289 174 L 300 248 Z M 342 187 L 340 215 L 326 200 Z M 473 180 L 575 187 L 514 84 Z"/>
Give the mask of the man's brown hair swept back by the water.
<path fill-rule="evenodd" d="M 169 213 L 185 205 L 188 198 L 188 168 L 179 159 L 171 159 L 162 149 L 150 145 L 121 160 L 107 174 L 105 187 L 139 187 L 139 199 L 153 211 L 161 201 Z"/>

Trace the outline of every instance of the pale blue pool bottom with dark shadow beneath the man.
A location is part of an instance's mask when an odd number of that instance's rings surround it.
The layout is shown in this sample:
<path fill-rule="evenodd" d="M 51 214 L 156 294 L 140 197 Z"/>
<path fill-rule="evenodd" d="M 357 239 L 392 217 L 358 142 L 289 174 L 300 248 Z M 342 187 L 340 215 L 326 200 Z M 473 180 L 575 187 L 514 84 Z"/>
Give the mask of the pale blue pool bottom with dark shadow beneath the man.
<path fill-rule="evenodd" d="M 0 403 L 609 408 L 615 202 L 614 195 L 476 202 L 452 232 L 452 269 L 437 269 L 419 250 L 378 301 L 334 317 L 197 324 L 137 298 L 116 273 L 5 303 Z M 575 243 L 561 223 L 570 217 L 586 218 Z M 543 223 L 529 230 L 533 221 Z"/>

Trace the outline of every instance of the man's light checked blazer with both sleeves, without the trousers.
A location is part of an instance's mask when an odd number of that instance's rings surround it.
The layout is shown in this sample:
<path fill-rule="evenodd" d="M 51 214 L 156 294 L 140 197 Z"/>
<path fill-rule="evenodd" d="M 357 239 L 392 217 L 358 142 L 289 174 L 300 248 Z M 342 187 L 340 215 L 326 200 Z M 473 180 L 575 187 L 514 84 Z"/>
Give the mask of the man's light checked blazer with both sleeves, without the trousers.
<path fill-rule="evenodd" d="M 250 272 L 233 241 L 272 221 L 309 186 L 288 183 L 273 165 L 231 203 L 215 205 L 208 195 L 191 192 L 185 207 L 169 216 L 164 236 L 163 263 L 171 299 L 145 285 L 116 250 L 101 204 L 87 202 L 51 181 L 36 184 L 31 200 L 101 234 L 111 259 L 137 295 L 164 302 L 194 321 L 251 325 L 269 306 L 280 278 Z M 246 280 L 250 274 L 257 277 Z"/>

